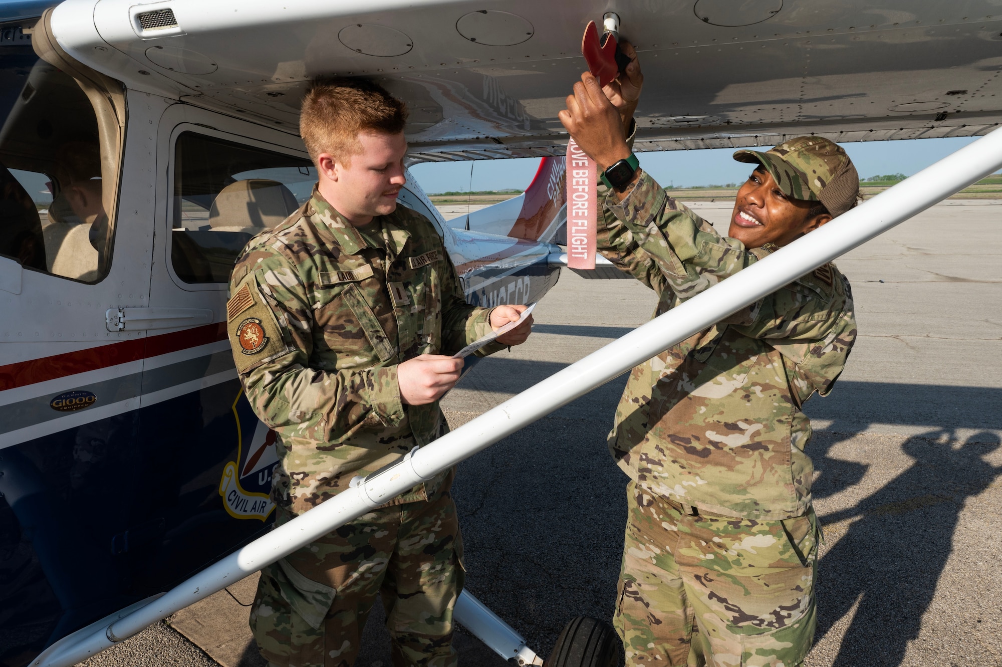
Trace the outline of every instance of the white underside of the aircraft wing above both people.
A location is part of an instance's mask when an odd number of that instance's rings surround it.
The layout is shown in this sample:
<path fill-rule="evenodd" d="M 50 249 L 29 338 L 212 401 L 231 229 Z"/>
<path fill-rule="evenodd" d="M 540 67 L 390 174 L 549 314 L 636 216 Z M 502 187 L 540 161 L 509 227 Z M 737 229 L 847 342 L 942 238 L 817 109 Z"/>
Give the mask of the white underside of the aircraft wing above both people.
<path fill-rule="evenodd" d="M 60 44 L 127 85 L 295 132 L 312 77 L 374 77 L 411 109 L 412 160 L 563 154 L 595 2 L 69 0 Z M 503 8 L 503 9 L 502 9 Z M 646 83 L 637 150 L 969 136 L 1002 106 L 991 0 L 639 2 L 615 10 Z"/>

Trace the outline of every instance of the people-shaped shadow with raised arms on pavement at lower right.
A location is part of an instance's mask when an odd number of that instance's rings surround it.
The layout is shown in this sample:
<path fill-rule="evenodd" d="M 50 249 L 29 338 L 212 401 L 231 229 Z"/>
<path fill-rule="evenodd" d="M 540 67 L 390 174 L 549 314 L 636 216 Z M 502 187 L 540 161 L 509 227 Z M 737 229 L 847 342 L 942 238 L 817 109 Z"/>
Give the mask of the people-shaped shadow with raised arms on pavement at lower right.
<path fill-rule="evenodd" d="M 914 459 L 910 468 L 857 506 L 822 517 L 826 524 L 859 517 L 819 567 L 816 642 L 859 602 L 834 667 L 901 664 L 936 594 L 965 502 L 1002 474 L 983 459 L 999 448 L 997 434 L 975 434 L 959 447 L 952 435 L 942 429 L 909 438 L 902 449 Z M 862 477 L 860 464 L 824 456 L 816 464 L 826 472 L 821 480 L 850 468 L 832 476 L 840 487 Z M 837 491 L 819 486 L 821 496 Z"/>

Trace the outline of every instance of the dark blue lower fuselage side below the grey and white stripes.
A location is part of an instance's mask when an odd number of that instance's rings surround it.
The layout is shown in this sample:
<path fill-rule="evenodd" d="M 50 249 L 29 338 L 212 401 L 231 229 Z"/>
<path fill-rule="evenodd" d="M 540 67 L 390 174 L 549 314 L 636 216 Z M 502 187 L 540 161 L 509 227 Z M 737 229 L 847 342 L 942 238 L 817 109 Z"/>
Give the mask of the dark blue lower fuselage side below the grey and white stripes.
<path fill-rule="evenodd" d="M 0 452 L 0 634 L 24 638 L 8 651 L 40 651 L 267 530 L 217 492 L 239 392 L 221 383 Z"/>

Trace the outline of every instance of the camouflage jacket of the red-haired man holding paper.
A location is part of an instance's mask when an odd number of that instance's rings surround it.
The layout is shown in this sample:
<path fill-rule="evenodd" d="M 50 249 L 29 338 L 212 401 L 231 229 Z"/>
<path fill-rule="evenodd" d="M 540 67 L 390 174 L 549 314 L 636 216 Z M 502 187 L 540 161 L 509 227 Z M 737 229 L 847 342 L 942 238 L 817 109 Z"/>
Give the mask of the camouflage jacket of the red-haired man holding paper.
<path fill-rule="evenodd" d="M 272 498 L 295 514 L 446 433 L 438 403 L 401 403 L 397 366 L 454 354 L 490 331 L 490 310 L 466 302 L 426 217 L 398 205 L 357 229 L 316 187 L 297 212 L 250 240 L 229 284 L 240 382 L 279 434 Z M 446 478 L 394 503 L 425 499 Z"/>

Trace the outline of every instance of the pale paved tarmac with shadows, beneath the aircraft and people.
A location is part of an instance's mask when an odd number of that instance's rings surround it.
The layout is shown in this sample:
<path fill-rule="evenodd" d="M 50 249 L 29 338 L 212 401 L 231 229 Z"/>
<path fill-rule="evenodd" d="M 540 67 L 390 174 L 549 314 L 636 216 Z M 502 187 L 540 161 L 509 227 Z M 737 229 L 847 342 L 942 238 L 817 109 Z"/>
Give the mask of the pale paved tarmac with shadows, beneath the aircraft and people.
<path fill-rule="evenodd" d="M 730 211 L 693 207 L 721 225 Z M 806 407 L 826 537 L 806 664 L 1002 666 L 1002 205 L 945 202 L 837 263 L 860 338 L 832 395 Z M 479 363 L 446 398 L 450 424 L 610 343 L 653 305 L 633 280 L 564 271 L 529 341 Z M 611 616 L 626 478 L 605 437 L 624 383 L 459 467 L 467 587 L 540 655 L 572 617 Z M 253 581 L 231 587 L 83 664 L 261 665 L 250 596 Z M 362 667 L 390 664 L 378 624 L 374 614 Z M 463 664 L 503 664 L 468 635 L 458 644 Z"/>

